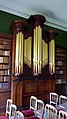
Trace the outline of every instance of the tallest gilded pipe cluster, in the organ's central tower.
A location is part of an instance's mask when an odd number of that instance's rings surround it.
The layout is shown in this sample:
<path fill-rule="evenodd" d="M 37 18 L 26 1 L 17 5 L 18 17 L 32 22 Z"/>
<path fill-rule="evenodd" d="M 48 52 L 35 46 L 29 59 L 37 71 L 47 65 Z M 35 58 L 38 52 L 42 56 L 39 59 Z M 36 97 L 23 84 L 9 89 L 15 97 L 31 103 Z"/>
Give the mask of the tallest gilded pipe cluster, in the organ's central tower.
<path fill-rule="evenodd" d="M 41 47 L 42 47 L 42 29 L 40 26 L 36 26 L 34 29 L 34 46 L 33 46 L 33 71 L 37 75 L 41 73 Z"/>

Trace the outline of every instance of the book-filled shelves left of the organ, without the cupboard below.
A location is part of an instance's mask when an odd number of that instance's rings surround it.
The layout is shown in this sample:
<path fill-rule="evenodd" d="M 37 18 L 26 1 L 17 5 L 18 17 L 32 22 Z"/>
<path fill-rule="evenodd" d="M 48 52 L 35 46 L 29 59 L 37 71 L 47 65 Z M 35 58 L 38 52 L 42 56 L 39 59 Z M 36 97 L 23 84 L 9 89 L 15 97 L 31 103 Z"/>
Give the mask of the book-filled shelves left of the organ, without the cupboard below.
<path fill-rule="evenodd" d="M 9 88 L 11 40 L 0 38 L 0 89 Z"/>

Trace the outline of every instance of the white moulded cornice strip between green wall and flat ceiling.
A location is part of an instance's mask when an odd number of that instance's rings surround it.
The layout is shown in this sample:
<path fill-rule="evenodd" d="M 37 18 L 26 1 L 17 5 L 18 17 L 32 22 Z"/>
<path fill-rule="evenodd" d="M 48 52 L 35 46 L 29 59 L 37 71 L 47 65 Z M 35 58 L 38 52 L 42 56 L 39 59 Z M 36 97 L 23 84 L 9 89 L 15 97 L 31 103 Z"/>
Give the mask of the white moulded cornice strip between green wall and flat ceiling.
<path fill-rule="evenodd" d="M 22 11 L 18 11 L 16 9 L 9 8 L 9 7 L 4 6 L 4 5 L 0 5 L 0 10 L 14 14 L 14 15 L 17 15 L 17 16 L 20 16 L 20 17 L 23 17 L 23 18 L 29 18 L 31 14 L 36 14 L 32 11 L 25 13 Z M 45 18 L 46 18 L 45 25 L 48 25 L 48 26 L 51 26 L 51 27 L 54 27 L 54 28 L 57 28 L 57 29 L 60 29 L 63 31 L 67 31 L 67 24 L 66 23 L 60 22 L 59 20 L 56 20 L 56 19 L 53 19 L 53 18 L 50 18 L 47 16 L 45 16 Z"/>

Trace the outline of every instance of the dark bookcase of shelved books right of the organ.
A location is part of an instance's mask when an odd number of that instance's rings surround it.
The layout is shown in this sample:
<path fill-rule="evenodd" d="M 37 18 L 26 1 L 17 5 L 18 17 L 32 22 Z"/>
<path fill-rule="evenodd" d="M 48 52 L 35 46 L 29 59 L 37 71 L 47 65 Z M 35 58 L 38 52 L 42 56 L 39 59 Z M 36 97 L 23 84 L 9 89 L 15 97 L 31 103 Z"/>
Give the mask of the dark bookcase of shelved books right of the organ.
<path fill-rule="evenodd" d="M 56 83 L 66 83 L 67 80 L 67 63 L 66 63 L 66 48 L 56 46 L 55 52 L 55 74 Z"/>

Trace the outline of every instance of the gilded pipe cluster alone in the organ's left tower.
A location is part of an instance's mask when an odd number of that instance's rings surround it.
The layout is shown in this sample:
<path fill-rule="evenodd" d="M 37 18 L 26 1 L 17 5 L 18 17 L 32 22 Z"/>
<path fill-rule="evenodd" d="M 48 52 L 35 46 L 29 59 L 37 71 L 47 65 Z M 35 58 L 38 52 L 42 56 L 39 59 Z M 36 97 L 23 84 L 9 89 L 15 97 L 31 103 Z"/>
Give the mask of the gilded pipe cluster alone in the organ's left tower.
<path fill-rule="evenodd" d="M 16 34 L 15 73 L 23 73 L 23 34 Z"/>

